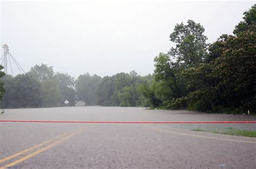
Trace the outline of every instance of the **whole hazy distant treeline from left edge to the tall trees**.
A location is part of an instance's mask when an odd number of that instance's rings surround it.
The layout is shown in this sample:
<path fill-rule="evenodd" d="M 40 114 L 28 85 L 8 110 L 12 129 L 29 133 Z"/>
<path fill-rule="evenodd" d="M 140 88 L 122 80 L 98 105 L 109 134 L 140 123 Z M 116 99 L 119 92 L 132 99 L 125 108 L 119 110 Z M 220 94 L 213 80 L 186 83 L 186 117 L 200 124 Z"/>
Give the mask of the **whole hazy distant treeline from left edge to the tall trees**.
<path fill-rule="evenodd" d="M 101 78 L 86 73 L 75 80 L 42 64 L 31 67 L 26 74 L 5 75 L 1 79 L 5 89 L 1 108 L 74 106 L 77 101 L 84 101 L 86 105 L 135 107 L 149 106 L 140 88 L 149 85 L 153 76 L 139 76 L 132 71 Z M 65 100 L 69 101 L 68 105 Z"/>

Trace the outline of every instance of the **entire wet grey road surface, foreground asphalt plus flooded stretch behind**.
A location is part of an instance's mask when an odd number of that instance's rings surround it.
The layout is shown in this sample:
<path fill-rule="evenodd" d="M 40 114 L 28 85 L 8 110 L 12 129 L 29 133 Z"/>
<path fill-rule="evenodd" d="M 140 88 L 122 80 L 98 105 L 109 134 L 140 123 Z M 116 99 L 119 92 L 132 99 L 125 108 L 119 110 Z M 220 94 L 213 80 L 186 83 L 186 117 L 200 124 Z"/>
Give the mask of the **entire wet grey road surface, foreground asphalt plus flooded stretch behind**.
<path fill-rule="evenodd" d="M 71 107 L 7 109 L 0 120 L 256 121 L 185 110 Z M 256 168 L 256 138 L 191 131 L 256 124 L 0 122 L 0 168 Z"/>

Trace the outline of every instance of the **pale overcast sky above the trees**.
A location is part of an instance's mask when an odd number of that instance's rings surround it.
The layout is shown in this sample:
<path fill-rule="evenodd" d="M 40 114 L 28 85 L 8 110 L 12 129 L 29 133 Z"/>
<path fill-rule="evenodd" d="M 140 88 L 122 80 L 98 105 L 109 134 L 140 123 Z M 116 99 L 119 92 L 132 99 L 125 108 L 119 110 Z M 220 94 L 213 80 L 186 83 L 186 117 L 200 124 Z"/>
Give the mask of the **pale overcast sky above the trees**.
<path fill-rule="evenodd" d="M 44 63 L 76 78 L 132 70 L 146 75 L 153 73 L 153 58 L 173 46 L 169 35 L 177 23 L 195 20 L 212 43 L 232 34 L 254 3 L 2 1 L 0 39 L 25 72 Z"/>

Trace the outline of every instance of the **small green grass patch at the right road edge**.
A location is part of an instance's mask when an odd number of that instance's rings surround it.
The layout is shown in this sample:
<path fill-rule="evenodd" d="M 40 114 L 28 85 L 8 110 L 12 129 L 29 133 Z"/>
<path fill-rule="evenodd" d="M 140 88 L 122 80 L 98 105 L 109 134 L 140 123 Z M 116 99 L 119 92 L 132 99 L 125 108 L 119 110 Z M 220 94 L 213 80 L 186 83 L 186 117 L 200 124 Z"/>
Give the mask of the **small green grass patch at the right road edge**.
<path fill-rule="evenodd" d="M 239 130 L 239 129 L 233 129 L 233 128 L 193 129 L 192 131 L 211 132 L 211 133 L 217 133 L 217 134 L 222 134 L 222 135 L 231 135 L 231 136 L 256 137 L 256 131 Z"/>

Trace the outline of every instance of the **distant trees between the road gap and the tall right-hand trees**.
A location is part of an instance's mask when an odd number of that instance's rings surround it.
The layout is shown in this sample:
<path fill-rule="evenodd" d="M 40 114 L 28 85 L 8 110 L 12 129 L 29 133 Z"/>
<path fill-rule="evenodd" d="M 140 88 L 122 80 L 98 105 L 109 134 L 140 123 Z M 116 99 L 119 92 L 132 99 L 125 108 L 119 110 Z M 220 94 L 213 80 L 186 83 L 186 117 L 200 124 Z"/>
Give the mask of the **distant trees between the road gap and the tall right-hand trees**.
<path fill-rule="evenodd" d="M 80 75 L 76 80 L 77 100 L 90 105 L 149 106 L 141 88 L 153 81 L 152 75 L 140 76 L 135 71 L 117 73 L 100 78 L 97 75 Z"/>

